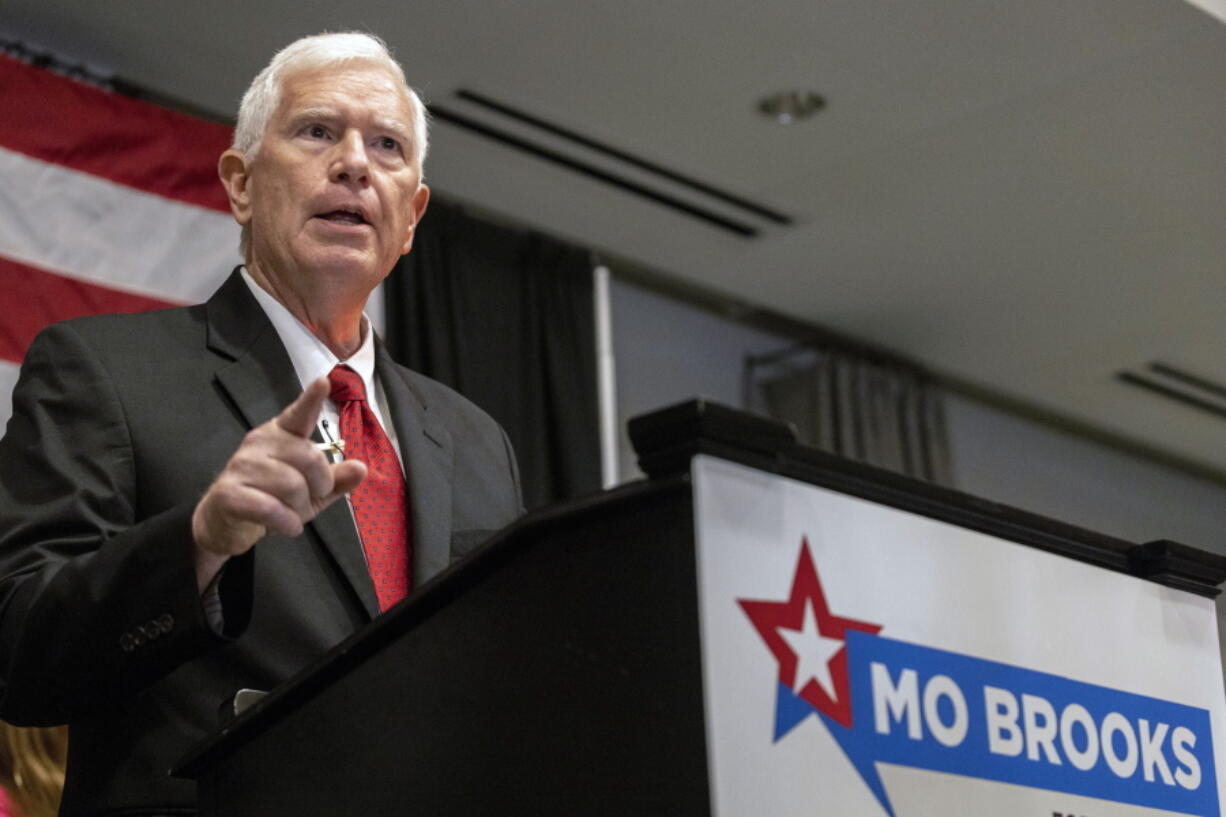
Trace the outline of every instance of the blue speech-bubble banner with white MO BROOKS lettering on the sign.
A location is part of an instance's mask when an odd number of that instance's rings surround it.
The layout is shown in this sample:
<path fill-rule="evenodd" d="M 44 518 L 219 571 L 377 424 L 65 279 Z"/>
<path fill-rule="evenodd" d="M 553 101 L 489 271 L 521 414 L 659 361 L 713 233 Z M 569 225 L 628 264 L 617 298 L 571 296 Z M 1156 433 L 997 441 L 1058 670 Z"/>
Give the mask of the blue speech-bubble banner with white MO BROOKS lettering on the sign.
<path fill-rule="evenodd" d="M 851 725 L 817 714 L 891 817 L 877 763 L 1220 817 L 1205 709 L 866 632 L 846 649 Z M 815 712 L 781 683 L 776 740 Z"/>

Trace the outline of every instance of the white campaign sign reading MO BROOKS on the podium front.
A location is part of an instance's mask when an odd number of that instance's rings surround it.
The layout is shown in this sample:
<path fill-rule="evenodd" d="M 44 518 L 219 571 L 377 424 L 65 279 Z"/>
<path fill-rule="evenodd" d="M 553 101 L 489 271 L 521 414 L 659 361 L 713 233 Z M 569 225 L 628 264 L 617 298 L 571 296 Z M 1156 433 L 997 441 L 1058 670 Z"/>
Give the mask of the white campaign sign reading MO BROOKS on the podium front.
<path fill-rule="evenodd" d="M 1208 600 L 693 467 L 715 815 L 1220 817 Z"/>

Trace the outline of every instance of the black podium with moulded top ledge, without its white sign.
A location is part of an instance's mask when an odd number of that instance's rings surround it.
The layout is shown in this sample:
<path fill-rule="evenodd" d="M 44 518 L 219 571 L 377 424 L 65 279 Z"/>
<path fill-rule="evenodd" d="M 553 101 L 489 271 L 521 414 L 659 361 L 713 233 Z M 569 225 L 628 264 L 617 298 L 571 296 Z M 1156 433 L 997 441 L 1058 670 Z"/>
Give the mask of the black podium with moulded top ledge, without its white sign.
<path fill-rule="evenodd" d="M 630 434 L 647 480 L 524 518 L 184 758 L 175 773 L 197 779 L 200 813 L 717 813 L 690 476 L 700 454 L 1187 594 L 1216 595 L 1226 578 L 1221 557 L 824 455 L 714 404 L 636 418 Z"/>

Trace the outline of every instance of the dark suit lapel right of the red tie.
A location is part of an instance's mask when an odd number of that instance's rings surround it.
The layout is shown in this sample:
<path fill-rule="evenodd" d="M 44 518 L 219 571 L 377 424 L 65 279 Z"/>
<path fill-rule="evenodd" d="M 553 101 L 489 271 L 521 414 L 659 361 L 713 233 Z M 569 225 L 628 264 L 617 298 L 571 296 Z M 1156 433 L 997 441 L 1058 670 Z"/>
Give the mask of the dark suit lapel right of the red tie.
<path fill-rule="evenodd" d="M 413 531 L 413 584 L 419 586 L 451 562 L 451 434 L 430 415 L 421 393 L 378 339 L 375 370 L 387 396 L 405 460 Z"/>

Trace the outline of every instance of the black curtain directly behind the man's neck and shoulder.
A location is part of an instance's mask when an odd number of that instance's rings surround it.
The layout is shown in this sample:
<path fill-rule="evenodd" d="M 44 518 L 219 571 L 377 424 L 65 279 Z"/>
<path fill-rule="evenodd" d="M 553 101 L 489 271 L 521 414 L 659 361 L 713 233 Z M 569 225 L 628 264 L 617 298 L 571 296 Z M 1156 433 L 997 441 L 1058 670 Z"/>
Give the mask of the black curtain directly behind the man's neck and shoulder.
<path fill-rule="evenodd" d="M 600 489 L 587 250 L 435 199 L 386 299 L 392 357 L 501 423 L 528 508 Z"/>

